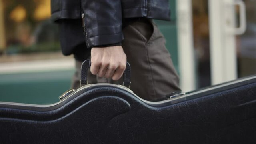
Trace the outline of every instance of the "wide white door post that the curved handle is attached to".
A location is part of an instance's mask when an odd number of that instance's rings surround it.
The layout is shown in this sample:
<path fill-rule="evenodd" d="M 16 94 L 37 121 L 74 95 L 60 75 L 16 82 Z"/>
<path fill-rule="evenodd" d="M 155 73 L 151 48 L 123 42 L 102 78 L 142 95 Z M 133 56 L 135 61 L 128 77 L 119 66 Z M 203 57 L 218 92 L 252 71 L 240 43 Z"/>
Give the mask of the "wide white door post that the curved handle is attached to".
<path fill-rule="evenodd" d="M 212 84 L 237 78 L 234 0 L 208 0 Z"/>

